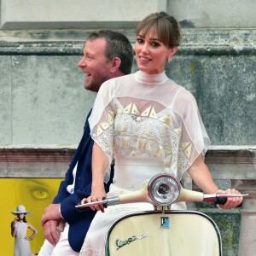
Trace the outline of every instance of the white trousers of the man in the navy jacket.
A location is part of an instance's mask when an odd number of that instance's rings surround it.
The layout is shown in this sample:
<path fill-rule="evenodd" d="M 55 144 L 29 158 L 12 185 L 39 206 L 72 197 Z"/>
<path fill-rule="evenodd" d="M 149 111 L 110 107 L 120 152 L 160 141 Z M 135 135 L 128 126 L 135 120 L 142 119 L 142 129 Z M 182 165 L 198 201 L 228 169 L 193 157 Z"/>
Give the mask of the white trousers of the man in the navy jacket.
<path fill-rule="evenodd" d="M 55 247 L 46 239 L 38 253 L 38 256 L 78 256 L 79 253 L 73 251 L 68 242 L 69 224 L 65 225 L 64 231 L 61 232 L 60 241 Z"/>

